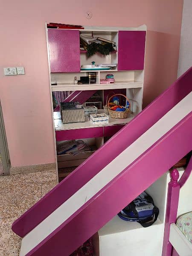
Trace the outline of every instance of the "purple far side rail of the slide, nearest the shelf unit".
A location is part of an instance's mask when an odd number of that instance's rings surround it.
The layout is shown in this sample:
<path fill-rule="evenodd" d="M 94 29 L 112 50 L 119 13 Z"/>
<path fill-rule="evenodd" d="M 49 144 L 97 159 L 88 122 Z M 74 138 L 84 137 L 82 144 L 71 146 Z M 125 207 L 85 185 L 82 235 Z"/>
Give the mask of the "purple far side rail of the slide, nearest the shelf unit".
<path fill-rule="evenodd" d="M 44 198 L 21 215 L 14 222 L 12 230 L 21 237 L 29 233 L 190 93 L 192 90 L 191 81 L 192 68 L 45 195 Z M 53 201 L 54 204 L 52 204 Z"/>

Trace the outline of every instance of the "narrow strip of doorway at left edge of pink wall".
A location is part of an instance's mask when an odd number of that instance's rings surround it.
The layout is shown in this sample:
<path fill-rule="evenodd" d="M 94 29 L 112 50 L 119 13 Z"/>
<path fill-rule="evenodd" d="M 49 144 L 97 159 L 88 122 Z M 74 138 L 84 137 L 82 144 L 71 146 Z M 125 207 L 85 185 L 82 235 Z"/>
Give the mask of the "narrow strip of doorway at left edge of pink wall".
<path fill-rule="evenodd" d="M 0 175 L 9 175 L 10 166 L 9 150 L 0 102 Z"/>

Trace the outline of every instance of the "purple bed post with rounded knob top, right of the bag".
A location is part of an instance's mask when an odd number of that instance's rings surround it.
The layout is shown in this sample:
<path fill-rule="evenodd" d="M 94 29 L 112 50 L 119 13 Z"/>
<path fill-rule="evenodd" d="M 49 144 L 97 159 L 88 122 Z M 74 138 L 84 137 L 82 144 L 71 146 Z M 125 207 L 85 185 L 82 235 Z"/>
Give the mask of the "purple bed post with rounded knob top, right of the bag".
<path fill-rule="evenodd" d="M 178 184 L 179 172 L 177 169 L 171 171 L 171 181 L 168 184 L 167 209 L 165 220 L 165 231 L 163 238 L 162 256 L 172 255 L 172 244 L 169 242 L 170 224 L 175 223 L 179 203 L 180 185 Z"/>

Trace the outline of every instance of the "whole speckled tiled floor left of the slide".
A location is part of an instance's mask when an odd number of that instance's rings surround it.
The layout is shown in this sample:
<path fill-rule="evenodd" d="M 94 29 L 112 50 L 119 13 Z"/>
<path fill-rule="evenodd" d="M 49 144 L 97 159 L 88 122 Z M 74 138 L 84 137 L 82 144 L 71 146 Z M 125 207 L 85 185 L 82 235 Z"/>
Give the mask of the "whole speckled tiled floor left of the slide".
<path fill-rule="evenodd" d="M 57 184 L 56 170 L 0 176 L 0 256 L 18 256 L 21 239 L 11 226 Z"/>

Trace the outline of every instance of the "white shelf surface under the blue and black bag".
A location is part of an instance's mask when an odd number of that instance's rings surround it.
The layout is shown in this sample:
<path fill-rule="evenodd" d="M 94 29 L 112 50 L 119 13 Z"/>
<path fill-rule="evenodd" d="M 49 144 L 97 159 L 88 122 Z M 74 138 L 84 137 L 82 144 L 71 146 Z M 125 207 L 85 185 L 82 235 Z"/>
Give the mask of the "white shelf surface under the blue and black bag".
<path fill-rule="evenodd" d="M 160 221 L 159 218 L 157 218 L 157 221 L 151 225 L 148 228 L 154 228 L 154 226 L 163 224 L 162 221 Z M 106 236 L 109 234 L 115 234 L 119 232 L 125 232 L 125 231 L 132 231 L 143 228 L 145 230 L 145 227 L 142 227 L 141 224 L 139 224 L 136 221 L 124 221 L 119 216 L 115 216 L 111 219 L 105 226 L 103 226 L 99 231 L 99 236 Z"/>

